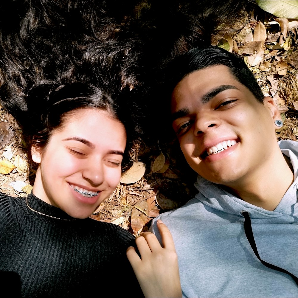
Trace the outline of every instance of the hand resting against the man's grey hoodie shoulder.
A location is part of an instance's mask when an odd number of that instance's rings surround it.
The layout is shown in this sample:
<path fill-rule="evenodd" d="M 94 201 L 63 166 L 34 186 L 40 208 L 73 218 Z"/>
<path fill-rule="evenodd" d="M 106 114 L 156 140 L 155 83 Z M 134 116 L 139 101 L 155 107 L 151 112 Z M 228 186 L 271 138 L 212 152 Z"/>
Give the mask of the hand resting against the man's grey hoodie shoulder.
<path fill-rule="evenodd" d="M 172 235 L 167 226 L 157 220 L 163 247 L 156 236 L 144 232 L 136 238 L 136 246 L 128 247 L 126 255 L 146 298 L 182 297 L 178 259 Z"/>

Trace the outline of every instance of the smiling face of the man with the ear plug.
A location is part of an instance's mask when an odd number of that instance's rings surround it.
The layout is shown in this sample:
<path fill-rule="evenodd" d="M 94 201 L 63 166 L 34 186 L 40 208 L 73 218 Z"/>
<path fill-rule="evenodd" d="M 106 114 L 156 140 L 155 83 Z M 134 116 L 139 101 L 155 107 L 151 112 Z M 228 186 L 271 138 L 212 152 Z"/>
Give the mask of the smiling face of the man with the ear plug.
<path fill-rule="evenodd" d="M 187 162 L 209 181 L 235 187 L 273 162 L 277 108 L 270 97 L 257 102 L 227 66 L 210 66 L 181 80 L 171 112 Z"/>

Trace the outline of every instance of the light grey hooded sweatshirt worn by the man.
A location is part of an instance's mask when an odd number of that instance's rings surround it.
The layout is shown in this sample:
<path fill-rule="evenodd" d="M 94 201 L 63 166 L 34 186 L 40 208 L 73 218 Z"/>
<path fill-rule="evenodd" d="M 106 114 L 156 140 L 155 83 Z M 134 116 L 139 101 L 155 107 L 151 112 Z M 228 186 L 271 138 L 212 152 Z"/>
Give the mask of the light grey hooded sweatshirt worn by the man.
<path fill-rule="evenodd" d="M 291 276 L 258 260 L 241 214 L 250 213 L 261 259 L 298 277 L 298 142 L 279 145 L 291 160 L 294 183 L 274 211 L 249 204 L 198 176 L 195 198 L 156 218 L 172 233 L 183 297 L 298 297 Z M 160 240 L 156 219 L 150 229 Z"/>

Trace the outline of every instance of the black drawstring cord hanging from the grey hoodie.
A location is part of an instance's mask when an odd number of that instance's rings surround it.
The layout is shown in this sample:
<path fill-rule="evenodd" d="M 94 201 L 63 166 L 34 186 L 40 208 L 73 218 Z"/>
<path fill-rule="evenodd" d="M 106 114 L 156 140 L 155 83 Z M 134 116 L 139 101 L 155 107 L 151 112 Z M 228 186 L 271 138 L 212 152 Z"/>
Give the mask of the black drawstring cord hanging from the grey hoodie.
<path fill-rule="evenodd" d="M 267 262 L 265 262 L 264 260 L 262 260 L 260 258 L 260 255 L 259 255 L 258 250 L 257 250 L 256 243 L 254 241 L 254 234 L 252 232 L 252 222 L 251 222 L 250 217 L 249 217 L 249 212 L 248 211 L 241 211 L 241 214 L 244 216 L 244 231 L 245 231 L 246 238 L 247 238 L 252 250 L 254 251 L 254 254 L 257 256 L 257 258 L 260 260 L 260 262 L 268 268 L 271 268 L 271 269 L 274 269 L 274 270 L 289 274 L 294 279 L 295 283 L 298 285 L 298 278 L 294 274 L 290 273 L 289 271 L 287 271 L 283 268 L 280 268 L 278 266 L 267 263 Z"/>

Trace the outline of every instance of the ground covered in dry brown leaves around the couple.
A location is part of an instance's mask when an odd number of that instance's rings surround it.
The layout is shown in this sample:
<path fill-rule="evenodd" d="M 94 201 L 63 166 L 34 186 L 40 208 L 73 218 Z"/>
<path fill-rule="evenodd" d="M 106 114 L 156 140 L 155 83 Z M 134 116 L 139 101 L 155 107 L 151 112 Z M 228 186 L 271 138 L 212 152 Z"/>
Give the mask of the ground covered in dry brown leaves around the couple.
<path fill-rule="evenodd" d="M 241 28 L 237 30 L 235 28 Z M 218 36 L 214 45 L 243 55 L 263 93 L 274 98 L 283 127 L 277 139 L 298 137 L 298 21 L 277 18 L 264 11 L 235 20 L 235 30 Z M 21 132 L 15 120 L 0 109 L 0 191 L 14 197 L 32 189 L 35 171 L 23 152 Z M 152 218 L 164 210 L 184 204 L 192 195 L 176 162 L 170 158 L 172 144 L 134 147 L 134 166 L 122 176 L 114 193 L 91 216 L 112 222 L 138 235 Z M 30 185 L 31 183 L 31 185 Z"/>

